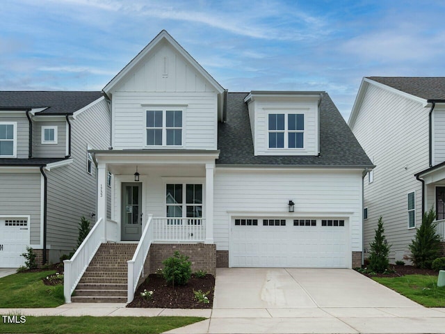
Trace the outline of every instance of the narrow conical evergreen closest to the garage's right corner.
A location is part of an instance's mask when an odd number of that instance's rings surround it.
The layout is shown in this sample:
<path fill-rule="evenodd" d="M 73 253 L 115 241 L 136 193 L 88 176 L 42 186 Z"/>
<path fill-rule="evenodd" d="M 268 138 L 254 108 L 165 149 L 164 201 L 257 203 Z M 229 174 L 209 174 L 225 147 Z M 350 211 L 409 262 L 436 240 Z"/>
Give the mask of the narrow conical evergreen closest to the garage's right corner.
<path fill-rule="evenodd" d="M 374 241 L 371 246 L 371 255 L 369 255 L 369 270 L 376 273 L 382 273 L 389 266 L 389 248 L 385 240 L 385 228 L 383 228 L 382 217 L 378 218 L 377 230 L 375 230 Z"/>

